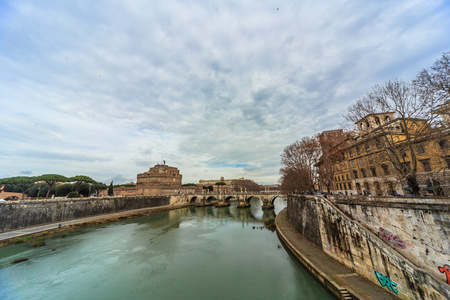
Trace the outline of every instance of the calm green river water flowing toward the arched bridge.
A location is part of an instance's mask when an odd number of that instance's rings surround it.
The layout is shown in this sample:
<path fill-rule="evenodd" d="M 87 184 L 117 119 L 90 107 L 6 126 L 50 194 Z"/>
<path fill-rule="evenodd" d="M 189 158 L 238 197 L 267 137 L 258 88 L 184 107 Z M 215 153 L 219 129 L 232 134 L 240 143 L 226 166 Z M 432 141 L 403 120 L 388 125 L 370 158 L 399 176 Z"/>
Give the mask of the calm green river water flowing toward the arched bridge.
<path fill-rule="evenodd" d="M 263 221 L 275 211 L 188 207 L 0 249 L 0 299 L 334 299 Z M 28 258 L 17 264 L 18 258 Z"/>

